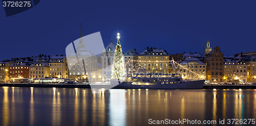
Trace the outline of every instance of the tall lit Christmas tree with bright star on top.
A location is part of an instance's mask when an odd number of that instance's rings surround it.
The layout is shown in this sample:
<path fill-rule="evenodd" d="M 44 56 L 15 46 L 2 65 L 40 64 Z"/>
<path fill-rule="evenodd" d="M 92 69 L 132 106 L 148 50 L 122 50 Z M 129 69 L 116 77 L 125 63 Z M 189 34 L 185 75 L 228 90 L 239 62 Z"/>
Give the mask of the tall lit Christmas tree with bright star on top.
<path fill-rule="evenodd" d="M 113 65 L 112 65 L 112 73 L 111 73 L 111 79 L 113 80 L 119 80 L 123 81 L 123 76 L 126 74 L 125 72 L 125 65 L 124 65 L 124 58 L 122 53 L 122 47 L 119 41 L 120 34 L 117 34 L 117 44 L 116 44 L 116 50 L 113 58 Z"/>

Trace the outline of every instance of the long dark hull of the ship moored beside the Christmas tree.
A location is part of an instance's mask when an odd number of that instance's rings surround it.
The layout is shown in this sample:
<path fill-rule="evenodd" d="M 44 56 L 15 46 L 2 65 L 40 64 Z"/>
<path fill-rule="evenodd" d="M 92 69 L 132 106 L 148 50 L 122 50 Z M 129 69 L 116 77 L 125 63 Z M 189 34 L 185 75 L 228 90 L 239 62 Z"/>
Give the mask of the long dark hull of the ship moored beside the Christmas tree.
<path fill-rule="evenodd" d="M 122 82 L 114 89 L 202 89 L 205 80 L 184 81 L 185 83 L 176 84 L 157 84 L 157 85 L 135 85 L 132 82 Z"/>

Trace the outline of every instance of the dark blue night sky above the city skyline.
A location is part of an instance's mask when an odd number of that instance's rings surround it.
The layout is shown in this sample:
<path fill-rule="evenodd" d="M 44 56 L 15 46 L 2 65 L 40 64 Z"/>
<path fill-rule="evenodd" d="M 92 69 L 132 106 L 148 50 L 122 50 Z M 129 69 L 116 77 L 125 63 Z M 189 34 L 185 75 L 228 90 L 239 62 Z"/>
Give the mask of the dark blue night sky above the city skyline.
<path fill-rule="evenodd" d="M 224 56 L 256 51 L 256 1 L 46 1 L 6 17 L 0 7 L 0 60 L 39 54 L 65 54 L 66 46 L 100 31 L 104 45 L 123 51 L 147 46 L 169 54 L 200 52 L 207 38 Z"/>

